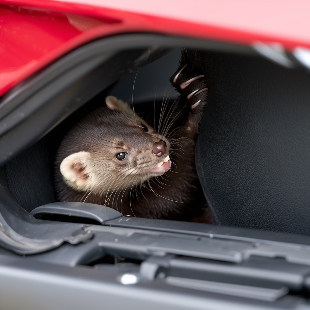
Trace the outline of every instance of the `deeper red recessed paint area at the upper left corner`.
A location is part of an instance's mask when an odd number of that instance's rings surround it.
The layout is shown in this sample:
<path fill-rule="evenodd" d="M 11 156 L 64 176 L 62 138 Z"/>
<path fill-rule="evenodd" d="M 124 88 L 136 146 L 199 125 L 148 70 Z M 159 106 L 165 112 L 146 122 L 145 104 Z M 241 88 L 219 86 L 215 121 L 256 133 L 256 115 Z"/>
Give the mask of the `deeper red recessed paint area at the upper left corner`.
<path fill-rule="evenodd" d="M 80 38 L 84 32 L 120 22 L 103 16 L 90 18 L 15 5 L 0 6 L 0 10 L 0 95 L 86 42 L 85 37 Z M 72 41 L 74 38 L 78 40 Z"/>

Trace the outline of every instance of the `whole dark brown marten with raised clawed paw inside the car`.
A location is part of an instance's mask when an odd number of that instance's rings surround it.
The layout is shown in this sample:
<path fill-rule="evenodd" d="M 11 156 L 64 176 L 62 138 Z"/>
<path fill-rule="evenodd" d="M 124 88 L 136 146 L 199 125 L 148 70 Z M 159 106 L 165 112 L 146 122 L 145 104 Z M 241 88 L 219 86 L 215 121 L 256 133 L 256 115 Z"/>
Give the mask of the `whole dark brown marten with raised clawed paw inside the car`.
<path fill-rule="evenodd" d="M 182 51 L 170 82 L 180 95 L 160 134 L 111 96 L 73 127 L 56 158 L 60 201 L 155 219 L 191 220 L 203 213 L 194 154 L 208 91 L 197 51 Z"/>

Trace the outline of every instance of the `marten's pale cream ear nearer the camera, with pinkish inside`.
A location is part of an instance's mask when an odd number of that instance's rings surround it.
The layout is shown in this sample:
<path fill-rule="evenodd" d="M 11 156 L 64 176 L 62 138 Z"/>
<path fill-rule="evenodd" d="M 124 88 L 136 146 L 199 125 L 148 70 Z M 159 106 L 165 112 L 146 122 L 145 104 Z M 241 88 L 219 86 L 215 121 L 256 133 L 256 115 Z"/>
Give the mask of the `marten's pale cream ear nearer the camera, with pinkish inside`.
<path fill-rule="evenodd" d="M 87 165 L 91 154 L 88 152 L 78 152 L 66 157 L 60 164 L 60 172 L 64 181 L 74 189 L 85 189 L 88 180 Z"/>

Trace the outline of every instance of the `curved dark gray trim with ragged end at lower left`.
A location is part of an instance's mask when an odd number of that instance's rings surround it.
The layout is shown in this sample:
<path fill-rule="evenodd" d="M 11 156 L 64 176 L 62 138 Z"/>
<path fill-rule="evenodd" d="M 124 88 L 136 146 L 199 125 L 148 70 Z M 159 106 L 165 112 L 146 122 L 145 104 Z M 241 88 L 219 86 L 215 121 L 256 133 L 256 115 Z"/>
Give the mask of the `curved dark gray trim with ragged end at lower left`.
<path fill-rule="evenodd" d="M 37 254 L 64 242 L 78 244 L 93 237 L 81 224 L 35 219 L 21 208 L 6 188 L 5 169 L 0 168 L 0 245 L 17 254 Z"/>

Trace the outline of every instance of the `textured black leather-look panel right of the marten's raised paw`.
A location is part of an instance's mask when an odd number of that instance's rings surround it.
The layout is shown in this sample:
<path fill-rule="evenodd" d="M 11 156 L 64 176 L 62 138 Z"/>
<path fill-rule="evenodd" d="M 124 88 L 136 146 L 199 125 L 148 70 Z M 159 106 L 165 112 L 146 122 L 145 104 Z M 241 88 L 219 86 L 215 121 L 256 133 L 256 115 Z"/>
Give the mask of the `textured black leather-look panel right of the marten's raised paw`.
<path fill-rule="evenodd" d="M 204 53 L 197 171 L 221 225 L 310 234 L 310 75 Z"/>

